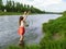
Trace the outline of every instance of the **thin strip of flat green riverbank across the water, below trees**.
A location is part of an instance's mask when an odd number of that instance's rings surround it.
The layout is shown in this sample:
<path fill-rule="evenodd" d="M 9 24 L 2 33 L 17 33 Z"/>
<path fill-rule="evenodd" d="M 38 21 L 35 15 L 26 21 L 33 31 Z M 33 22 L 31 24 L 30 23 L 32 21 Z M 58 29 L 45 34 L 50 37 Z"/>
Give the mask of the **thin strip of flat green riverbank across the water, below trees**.
<path fill-rule="evenodd" d="M 0 12 L 0 15 L 22 15 L 23 12 Z M 62 14 L 62 13 L 30 13 L 31 15 L 34 15 L 34 14 Z"/>

